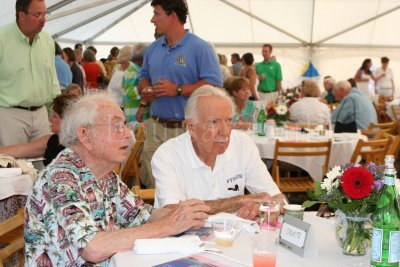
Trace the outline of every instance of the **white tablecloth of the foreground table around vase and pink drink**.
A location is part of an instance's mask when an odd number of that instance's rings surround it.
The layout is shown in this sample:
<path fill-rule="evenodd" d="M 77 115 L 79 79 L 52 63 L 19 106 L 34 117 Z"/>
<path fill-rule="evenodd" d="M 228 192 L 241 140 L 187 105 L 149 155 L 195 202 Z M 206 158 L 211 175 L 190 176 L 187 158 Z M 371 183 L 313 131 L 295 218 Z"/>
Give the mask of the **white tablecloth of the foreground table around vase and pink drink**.
<path fill-rule="evenodd" d="M 302 258 L 291 251 L 279 247 L 277 254 L 277 267 L 351 267 L 351 266 L 369 266 L 369 251 L 360 257 L 346 256 L 341 252 L 340 247 L 336 243 L 335 229 L 333 227 L 334 220 L 323 219 L 315 216 L 315 212 L 306 212 L 304 221 L 312 225 L 316 233 L 316 242 L 318 247 L 318 257 Z M 234 263 L 221 256 L 210 253 L 201 253 L 206 256 L 228 266 L 252 266 L 251 258 L 251 234 L 242 233 L 235 240 L 230 248 L 219 248 L 223 251 L 222 255 L 233 258 L 243 264 Z M 130 267 L 134 263 L 135 266 L 147 267 L 164 263 L 173 259 L 189 256 L 188 254 L 158 254 L 158 255 L 136 255 L 134 251 L 126 251 L 116 253 L 110 260 L 109 267 Z"/>

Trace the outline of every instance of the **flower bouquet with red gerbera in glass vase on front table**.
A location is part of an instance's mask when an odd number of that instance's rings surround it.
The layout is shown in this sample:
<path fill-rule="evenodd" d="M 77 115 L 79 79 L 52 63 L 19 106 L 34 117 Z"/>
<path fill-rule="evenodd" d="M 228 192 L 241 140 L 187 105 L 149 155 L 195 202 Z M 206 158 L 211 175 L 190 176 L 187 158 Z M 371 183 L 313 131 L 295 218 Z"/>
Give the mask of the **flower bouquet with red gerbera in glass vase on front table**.
<path fill-rule="evenodd" d="M 325 203 L 336 211 L 340 219 L 336 236 L 345 254 L 364 255 L 371 243 L 371 228 L 366 228 L 366 222 L 376 209 L 384 168 L 372 162 L 366 167 L 351 163 L 336 166 L 322 183 L 314 183 L 314 192 L 307 192 L 310 200 L 304 207 Z"/>

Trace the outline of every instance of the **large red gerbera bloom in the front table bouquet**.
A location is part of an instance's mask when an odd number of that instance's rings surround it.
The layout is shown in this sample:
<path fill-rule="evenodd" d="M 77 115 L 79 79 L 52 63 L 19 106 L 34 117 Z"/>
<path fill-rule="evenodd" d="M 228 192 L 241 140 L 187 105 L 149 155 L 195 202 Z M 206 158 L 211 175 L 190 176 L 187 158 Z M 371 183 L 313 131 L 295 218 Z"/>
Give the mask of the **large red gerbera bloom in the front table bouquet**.
<path fill-rule="evenodd" d="M 369 196 L 374 184 L 371 172 L 363 167 L 351 167 L 343 173 L 342 189 L 351 199 L 361 199 Z"/>

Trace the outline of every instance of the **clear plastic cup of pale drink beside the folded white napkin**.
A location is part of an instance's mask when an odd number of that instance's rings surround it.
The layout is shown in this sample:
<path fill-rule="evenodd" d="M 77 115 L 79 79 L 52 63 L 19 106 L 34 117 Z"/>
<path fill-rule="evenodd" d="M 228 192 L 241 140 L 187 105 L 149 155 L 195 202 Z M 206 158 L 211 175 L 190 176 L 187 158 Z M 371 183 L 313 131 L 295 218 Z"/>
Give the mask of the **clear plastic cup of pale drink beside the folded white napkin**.
<path fill-rule="evenodd" d="M 218 220 L 211 223 L 217 246 L 230 247 L 233 245 L 240 230 L 239 223 L 232 220 Z"/>

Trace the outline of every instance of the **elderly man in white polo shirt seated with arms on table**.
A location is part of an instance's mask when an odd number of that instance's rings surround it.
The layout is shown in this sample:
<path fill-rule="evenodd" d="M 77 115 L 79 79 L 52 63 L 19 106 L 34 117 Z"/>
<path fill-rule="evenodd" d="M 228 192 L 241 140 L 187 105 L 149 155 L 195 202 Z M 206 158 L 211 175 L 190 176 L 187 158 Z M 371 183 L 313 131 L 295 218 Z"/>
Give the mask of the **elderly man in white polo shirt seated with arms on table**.
<path fill-rule="evenodd" d="M 255 144 L 232 131 L 233 114 L 232 99 L 221 89 L 205 85 L 192 94 L 185 108 L 188 131 L 161 145 L 152 159 L 156 207 L 198 198 L 211 214 L 237 211 L 251 219 L 259 202 L 284 198 Z M 245 188 L 252 195 L 244 195 Z"/>

